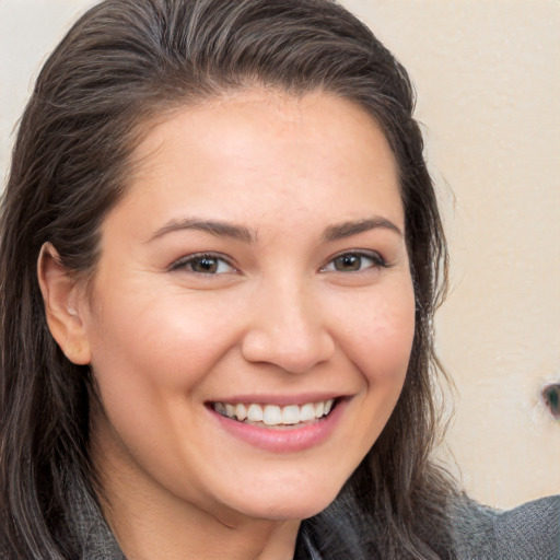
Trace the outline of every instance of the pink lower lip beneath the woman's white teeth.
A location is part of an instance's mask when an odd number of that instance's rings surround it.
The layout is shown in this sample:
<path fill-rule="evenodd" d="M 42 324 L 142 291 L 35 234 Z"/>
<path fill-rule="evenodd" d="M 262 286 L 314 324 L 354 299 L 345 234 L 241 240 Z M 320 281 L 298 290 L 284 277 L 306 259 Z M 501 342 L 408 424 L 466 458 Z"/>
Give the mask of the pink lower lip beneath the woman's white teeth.
<path fill-rule="evenodd" d="M 294 453 L 319 445 L 329 438 L 343 413 L 348 401 L 340 400 L 330 413 L 322 420 L 301 428 L 265 428 L 232 420 L 212 408 L 208 410 L 230 434 L 255 447 L 273 453 Z"/>

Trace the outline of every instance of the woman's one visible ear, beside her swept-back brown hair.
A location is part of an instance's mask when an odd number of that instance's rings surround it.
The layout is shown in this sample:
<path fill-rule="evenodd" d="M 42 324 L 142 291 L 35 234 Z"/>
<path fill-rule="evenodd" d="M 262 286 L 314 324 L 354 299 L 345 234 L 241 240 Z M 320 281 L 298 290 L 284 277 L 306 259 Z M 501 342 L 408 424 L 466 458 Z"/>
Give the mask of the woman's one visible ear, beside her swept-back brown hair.
<path fill-rule="evenodd" d="M 83 289 L 61 264 L 50 243 L 40 248 L 37 276 L 50 334 L 71 362 L 90 363 L 90 343 L 82 317 Z"/>

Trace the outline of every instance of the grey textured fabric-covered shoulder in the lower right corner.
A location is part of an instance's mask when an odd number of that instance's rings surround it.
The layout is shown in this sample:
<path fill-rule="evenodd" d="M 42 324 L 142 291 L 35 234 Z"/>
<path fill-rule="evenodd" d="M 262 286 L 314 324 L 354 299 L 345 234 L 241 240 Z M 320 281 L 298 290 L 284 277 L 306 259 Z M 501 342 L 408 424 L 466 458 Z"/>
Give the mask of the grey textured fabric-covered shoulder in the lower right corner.
<path fill-rule="evenodd" d="M 560 495 L 509 511 L 464 499 L 453 508 L 459 560 L 560 560 Z"/>

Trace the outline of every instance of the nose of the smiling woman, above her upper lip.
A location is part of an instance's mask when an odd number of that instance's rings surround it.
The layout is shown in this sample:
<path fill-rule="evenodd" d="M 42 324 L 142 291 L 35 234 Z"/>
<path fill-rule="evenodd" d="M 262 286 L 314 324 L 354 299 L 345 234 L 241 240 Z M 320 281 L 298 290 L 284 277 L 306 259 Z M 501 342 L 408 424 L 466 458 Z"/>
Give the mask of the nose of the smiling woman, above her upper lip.
<path fill-rule="evenodd" d="M 308 292 L 284 284 L 255 294 L 242 342 L 247 361 L 305 373 L 332 355 L 335 341 L 324 312 Z"/>

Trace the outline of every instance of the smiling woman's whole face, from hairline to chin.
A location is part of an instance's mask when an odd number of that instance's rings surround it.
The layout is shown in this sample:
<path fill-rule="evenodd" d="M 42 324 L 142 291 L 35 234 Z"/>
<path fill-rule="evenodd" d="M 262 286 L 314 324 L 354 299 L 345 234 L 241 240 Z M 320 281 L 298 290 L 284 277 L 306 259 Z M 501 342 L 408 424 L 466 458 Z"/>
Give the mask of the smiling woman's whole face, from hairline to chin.
<path fill-rule="evenodd" d="M 411 349 L 388 144 L 347 101 L 257 90 L 175 113 L 136 155 L 80 307 L 96 462 L 152 502 L 313 515 L 385 425 Z"/>

